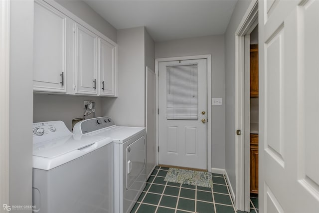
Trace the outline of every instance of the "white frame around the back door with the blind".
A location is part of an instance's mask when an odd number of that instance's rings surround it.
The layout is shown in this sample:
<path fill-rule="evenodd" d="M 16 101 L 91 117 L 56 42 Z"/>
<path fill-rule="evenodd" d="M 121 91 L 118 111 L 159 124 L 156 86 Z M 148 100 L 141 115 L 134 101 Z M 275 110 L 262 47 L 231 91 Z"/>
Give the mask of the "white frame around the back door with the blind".
<path fill-rule="evenodd" d="M 181 57 L 168 57 L 155 59 L 155 74 L 156 74 L 156 108 L 159 109 L 159 62 L 207 59 L 207 171 L 211 172 L 211 55 L 194 55 Z M 159 113 L 156 113 L 156 164 L 159 165 Z"/>

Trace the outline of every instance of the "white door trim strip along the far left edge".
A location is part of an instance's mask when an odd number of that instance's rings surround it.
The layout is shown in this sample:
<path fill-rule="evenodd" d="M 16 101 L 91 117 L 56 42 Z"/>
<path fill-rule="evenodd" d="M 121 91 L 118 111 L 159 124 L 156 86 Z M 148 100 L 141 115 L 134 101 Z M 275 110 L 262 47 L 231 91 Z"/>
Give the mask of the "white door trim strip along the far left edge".
<path fill-rule="evenodd" d="M 9 204 L 10 0 L 0 1 L 0 201 Z"/>

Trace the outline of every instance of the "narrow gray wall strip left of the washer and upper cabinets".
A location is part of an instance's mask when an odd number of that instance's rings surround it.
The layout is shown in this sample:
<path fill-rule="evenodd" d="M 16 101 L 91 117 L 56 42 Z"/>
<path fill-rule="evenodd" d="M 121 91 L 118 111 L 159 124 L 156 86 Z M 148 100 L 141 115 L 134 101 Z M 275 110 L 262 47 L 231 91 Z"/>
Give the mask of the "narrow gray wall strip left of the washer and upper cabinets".
<path fill-rule="evenodd" d="M 9 205 L 32 205 L 32 73 L 33 1 L 10 1 Z"/>

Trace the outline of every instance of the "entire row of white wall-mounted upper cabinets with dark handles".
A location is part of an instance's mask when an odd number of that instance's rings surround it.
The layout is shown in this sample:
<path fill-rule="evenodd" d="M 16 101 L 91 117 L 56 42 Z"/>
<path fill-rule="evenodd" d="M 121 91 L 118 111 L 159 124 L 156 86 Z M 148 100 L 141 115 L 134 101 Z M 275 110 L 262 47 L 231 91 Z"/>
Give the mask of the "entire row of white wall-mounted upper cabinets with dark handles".
<path fill-rule="evenodd" d="M 117 44 L 55 1 L 34 1 L 33 91 L 117 96 Z"/>

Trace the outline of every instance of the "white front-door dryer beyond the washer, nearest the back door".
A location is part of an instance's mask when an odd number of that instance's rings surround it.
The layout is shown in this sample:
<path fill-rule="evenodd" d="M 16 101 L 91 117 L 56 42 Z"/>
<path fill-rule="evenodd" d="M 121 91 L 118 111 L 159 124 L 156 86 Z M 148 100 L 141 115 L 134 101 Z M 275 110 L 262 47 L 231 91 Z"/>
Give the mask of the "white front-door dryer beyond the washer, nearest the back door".
<path fill-rule="evenodd" d="M 110 117 L 99 117 L 80 121 L 73 134 L 113 139 L 114 212 L 130 213 L 146 186 L 146 129 L 116 126 Z"/>

